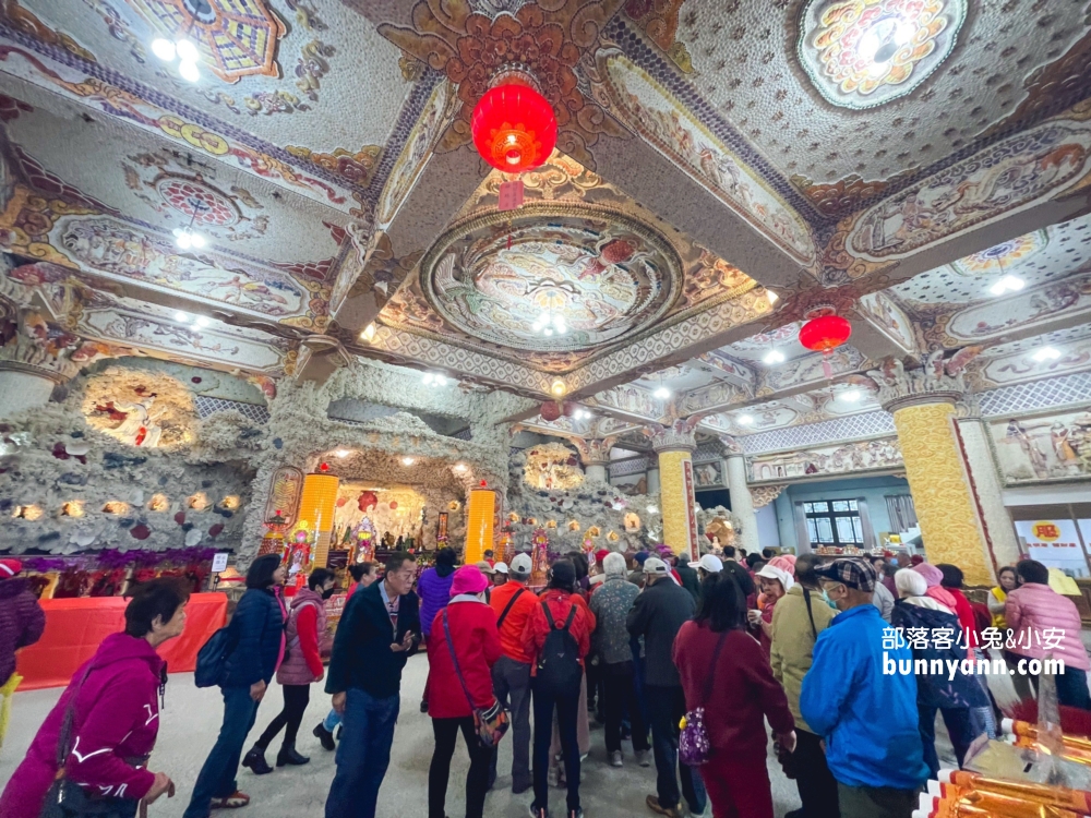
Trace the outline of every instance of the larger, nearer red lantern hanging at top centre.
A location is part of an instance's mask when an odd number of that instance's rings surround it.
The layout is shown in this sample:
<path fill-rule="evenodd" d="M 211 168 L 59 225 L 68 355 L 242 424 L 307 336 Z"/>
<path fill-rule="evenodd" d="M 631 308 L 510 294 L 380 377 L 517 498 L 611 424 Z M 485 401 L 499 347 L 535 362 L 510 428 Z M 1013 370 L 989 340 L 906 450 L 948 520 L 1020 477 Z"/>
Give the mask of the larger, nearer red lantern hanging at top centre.
<path fill-rule="evenodd" d="M 546 97 L 511 75 L 478 101 L 470 131 L 481 158 L 507 173 L 537 168 L 556 145 L 553 108 Z"/>

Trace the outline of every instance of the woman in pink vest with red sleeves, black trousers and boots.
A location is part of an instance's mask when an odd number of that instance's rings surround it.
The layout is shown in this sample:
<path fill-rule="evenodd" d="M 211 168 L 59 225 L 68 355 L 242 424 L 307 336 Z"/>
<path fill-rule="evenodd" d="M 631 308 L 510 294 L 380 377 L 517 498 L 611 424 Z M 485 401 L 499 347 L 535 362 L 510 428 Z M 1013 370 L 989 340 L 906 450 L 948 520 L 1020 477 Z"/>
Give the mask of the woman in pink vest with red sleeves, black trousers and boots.
<path fill-rule="evenodd" d="M 325 600 L 334 592 L 335 579 L 332 570 L 315 568 L 307 578 L 307 587 L 291 598 L 291 612 L 285 627 L 284 661 L 276 671 L 276 681 L 284 693 L 284 707 L 242 759 L 242 766 L 249 767 L 255 775 L 273 772 L 265 760 L 265 750 L 281 730 L 284 742 L 276 754 L 276 766 L 305 765 L 311 760 L 296 751 L 296 735 L 311 700 L 311 683 L 321 682 L 325 675 L 319 641 L 326 633 Z"/>

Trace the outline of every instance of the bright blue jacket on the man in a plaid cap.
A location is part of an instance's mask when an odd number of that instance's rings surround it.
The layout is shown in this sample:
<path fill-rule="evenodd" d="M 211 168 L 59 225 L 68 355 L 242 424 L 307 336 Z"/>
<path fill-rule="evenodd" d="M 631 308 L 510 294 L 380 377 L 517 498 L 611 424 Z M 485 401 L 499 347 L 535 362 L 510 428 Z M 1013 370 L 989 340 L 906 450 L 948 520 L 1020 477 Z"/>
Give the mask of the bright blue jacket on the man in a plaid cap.
<path fill-rule="evenodd" d="M 916 678 L 883 672 L 884 654 L 895 662 L 913 654 L 907 647 L 885 651 L 886 627 L 875 605 L 835 616 L 815 642 L 800 711 L 826 739 L 826 763 L 835 779 L 848 786 L 915 790 L 928 779 Z"/>

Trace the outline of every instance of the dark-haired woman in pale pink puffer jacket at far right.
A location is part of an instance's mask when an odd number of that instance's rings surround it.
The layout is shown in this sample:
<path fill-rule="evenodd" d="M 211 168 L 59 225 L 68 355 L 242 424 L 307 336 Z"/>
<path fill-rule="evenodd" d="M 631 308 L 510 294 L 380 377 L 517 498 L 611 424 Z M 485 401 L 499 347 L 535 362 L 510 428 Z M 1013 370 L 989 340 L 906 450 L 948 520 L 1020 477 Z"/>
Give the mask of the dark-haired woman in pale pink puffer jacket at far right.
<path fill-rule="evenodd" d="M 1091 710 L 1087 675 L 1091 662 L 1080 641 L 1079 611 L 1070 599 L 1050 588 L 1050 569 L 1042 563 L 1023 560 L 1016 566 L 1016 574 L 1019 587 L 1008 594 L 1004 605 L 1015 643 L 1008 652 L 1017 663 L 1016 672 L 1023 659 L 1052 655 L 1063 660 L 1065 672 L 1056 674 L 1057 699 L 1068 707 Z"/>

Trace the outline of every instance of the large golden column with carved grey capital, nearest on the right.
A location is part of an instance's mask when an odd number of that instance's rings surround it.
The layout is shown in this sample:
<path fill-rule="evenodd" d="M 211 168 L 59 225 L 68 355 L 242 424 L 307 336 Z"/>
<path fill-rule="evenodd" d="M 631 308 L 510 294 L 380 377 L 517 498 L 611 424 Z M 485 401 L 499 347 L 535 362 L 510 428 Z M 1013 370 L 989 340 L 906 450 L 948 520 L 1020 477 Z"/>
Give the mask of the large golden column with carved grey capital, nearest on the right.
<path fill-rule="evenodd" d="M 959 566 L 969 585 L 994 584 L 996 560 L 956 412 L 967 394 L 961 374 L 940 364 L 872 375 L 894 414 L 928 562 Z"/>

